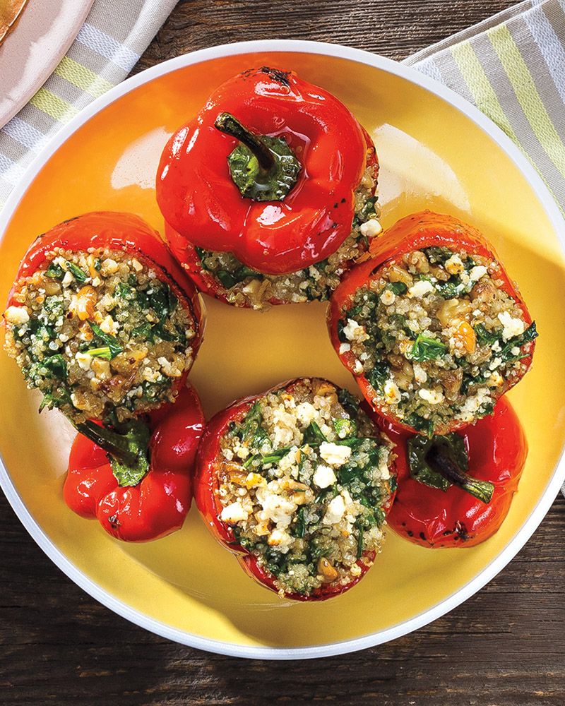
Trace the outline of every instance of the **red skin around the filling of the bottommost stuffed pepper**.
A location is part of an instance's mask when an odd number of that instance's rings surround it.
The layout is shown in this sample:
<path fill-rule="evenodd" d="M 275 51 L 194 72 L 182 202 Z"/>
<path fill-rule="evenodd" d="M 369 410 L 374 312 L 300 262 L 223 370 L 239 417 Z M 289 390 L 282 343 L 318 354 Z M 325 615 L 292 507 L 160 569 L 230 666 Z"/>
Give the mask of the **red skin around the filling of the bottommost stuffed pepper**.
<path fill-rule="evenodd" d="M 296 380 L 287 381 L 272 390 L 268 390 L 266 393 L 263 393 L 263 395 L 280 389 L 292 391 L 292 387 L 296 382 Z M 226 549 L 229 549 L 229 551 L 237 557 L 245 573 L 259 584 L 276 593 L 278 592 L 278 587 L 275 586 L 273 574 L 258 565 L 256 556 L 237 542 L 231 525 L 220 520 L 222 504 L 219 499 L 219 482 L 216 469 L 216 460 L 221 453 L 220 439 L 227 434 L 230 424 L 232 424 L 232 422 L 242 421 L 258 397 L 263 397 L 263 395 L 244 397 L 241 400 L 236 400 L 230 407 L 218 412 L 206 425 L 196 460 L 194 501 L 196 502 L 196 507 L 200 510 L 208 530 L 210 530 L 213 537 L 215 537 L 222 546 L 225 546 Z M 352 580 L 352 582 L 345 586 L 331 584 L 322 585 L 309 596 L 293 592 L 285 593 L 285 598 L 295 601 L 323 601 L 337 596 L 349 590 L 352 586 L 355 586 L 372 566 L 374 559 L 374 551 L 365 551 L 359 561 L 357 561 L 361 573 L 355 580 Z"/>

